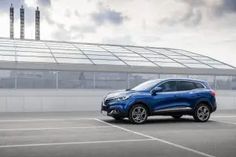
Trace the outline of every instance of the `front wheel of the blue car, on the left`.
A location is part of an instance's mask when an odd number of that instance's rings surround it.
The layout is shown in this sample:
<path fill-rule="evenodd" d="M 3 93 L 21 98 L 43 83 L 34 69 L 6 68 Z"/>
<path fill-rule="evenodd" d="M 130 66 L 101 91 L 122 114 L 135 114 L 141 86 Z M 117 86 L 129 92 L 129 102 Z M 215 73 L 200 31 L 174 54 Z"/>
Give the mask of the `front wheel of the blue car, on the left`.
<path fill-rule="evenodd" d="M 148 117 L 148 110 L 142 104 L 136 104 L 129 111 L 129 120 L 134 124 L 145 123 Z"/>

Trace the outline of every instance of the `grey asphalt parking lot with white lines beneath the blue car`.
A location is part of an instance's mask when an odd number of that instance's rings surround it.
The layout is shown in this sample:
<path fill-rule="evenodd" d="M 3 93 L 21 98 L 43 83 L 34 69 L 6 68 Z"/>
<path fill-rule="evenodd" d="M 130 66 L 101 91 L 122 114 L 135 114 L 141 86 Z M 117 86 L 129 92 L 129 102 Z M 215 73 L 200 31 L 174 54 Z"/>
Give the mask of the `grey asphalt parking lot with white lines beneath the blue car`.
<path fill-rule="evenodd" d="M 150 117 L 142 125 L 98 112 L 1 113 L 0 157 L 235 157 L 236 111 Z"/>

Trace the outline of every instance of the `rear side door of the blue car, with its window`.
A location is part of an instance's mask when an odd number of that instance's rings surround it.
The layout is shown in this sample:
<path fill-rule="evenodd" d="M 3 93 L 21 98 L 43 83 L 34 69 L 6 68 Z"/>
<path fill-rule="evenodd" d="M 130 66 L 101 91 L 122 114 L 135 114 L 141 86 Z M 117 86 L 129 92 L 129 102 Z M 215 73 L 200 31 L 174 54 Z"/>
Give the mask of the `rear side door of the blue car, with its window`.
<path fill-rule="evenodd" d="M 177 81 L 176 102 L 179 108 L 191 108 L 197 99 L 196 84 L 192 81 Z"/>

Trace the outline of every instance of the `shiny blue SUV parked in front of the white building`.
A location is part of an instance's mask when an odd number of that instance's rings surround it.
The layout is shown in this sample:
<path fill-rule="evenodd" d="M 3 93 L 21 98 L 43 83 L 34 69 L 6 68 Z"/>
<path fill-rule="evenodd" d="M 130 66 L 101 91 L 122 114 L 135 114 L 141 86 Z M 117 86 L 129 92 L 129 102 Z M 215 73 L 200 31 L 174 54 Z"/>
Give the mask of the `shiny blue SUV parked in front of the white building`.
<path fill-rule="evenodd" d="M 144 123 L 148 116 L 169 115 L 175 119 L 192 115 L 206 122 L 216 110 L 215 92 L 206 81 L 195 79 L 156 79 L 132 89 L 118 90 L 104 97 L 101 111 L 116 120 L 129 118 Z"/>

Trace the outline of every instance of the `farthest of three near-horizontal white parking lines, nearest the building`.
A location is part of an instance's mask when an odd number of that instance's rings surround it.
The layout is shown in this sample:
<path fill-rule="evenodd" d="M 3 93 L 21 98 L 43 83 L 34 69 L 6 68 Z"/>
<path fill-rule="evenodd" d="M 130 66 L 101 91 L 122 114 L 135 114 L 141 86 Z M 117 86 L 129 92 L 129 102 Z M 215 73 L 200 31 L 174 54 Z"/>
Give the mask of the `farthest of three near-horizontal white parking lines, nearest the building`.
<path fill-rule="evenodd" d="M 37 121 L 70 121 L 70 120 L 94 120 L 94 118 L 74 118 L 74 119 L 7 119 L 0 120 L 0 123 L 8 122 L 37 122 Z"/>

